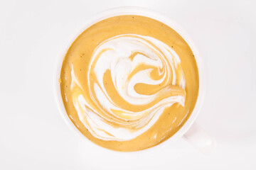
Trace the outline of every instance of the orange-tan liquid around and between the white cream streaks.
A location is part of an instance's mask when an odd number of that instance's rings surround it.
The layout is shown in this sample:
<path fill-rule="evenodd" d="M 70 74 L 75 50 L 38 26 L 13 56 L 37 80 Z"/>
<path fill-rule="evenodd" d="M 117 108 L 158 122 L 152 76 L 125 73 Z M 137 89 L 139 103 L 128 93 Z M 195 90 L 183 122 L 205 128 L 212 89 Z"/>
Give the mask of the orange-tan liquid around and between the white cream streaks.
<path fill-rule="evenodd" d="M 164 79 L 161 84 L 157 85 L 136 84 L 134 90 L 137 91 L 138 94 L 143 95 L 156 94 L 161 91 L 161 89 L 167 90 L 164 91 L 164 93 L 159 93 L 151 103 L 134 105 L 125 101 L 124 98 L 117 93 L 117 89 L 113 84 L 111 72 L 108 70 L 105 72 L 102 81 L 105 84 L 104 87 L 107 89 L 107 94 L 112 99 L 112 102 L 120 108 L 133 112 L 144 111 L 146 108 L 156 105 L 156 103 L 168 96 L 183 96 L 183 98 L 185 98 L 185 103 L 184 106 L 181 106 L 180 103 L 174 103 L 172 106 L 166 107 L 154 125 L 151 125 L 146 132 L 143 132 L 132 140 L 102 140 L 95 137 L 95 135 L 92 135 L 88 128 L 85 128 L 87 120 L 84 119 L 82 122 L 81 118 L 78 116 L 78 110 L 82 109 L 82 106 L 75 106 L 74 103 L 76 98 L 78 98 L 79 95 L 82 95 L 85 98 L 85 101 L 95 108 L 98 115 L 102 115 L 102 117 L 106 118 L 106 123 L 109 123 L 114 128 L 122 126 L 124 128 L 129 128 L 131 131 L 137 130 L 138 125 L 135 124 L 137 120 L 143 118 L 143 115 L 134 118 L 129 117 L 129 115 L 125 115 L 120 111 L 113 111 L 114 116 L 112 116 L 107 113 L 107 111 L 104 111 L 104 109 L 102 110 L 102 108 L 97 107 L 100 103 L 100 98 L 97 99 L 99 101 L 92 99 L 95 97 L 95 94 L 93 93 L 95 89 L 93 86 L 88 85 L 92 85 L 95 82 L 97 83 L 96 74 L 93 72 L 95 63 L 91 61 L 95 48 L 109 38 L 127 34 L 146 35 L 156 38 L 171 47 L 181 60 L 180 64 L 175 68 L 176 74 L 181 74 L 183 72 L 182 74 L 186 80 L 186 87 L 181 88 L 181 86 L 178 86 L 178 82 L 180 81 L 178 77 L 176 77 L 176 84 L 170 83 L 170 79 L 174 79 L 174 77 L 171 77 L 169 80 Z M 136 52 L 133 53 L 129 59 L 132 61 L 135 55 L 137 55 Z M 151 79 L 157 80 L 162 78 L 161 74 L 159 74 L 159 69 L 146 64 L 140 64 L 129 74 L 128 79 L 129 77 L 134 76 L 137 72 L 149 68 L 152 69 L 149 75 Z M 72 79 L 72 72 L 76 79 L 78 79 L 79 85 L 73 83 L 74 78 Z M 174 135 L 182 125 L 186 123 L 186 120 L 188 120 L 192 113 L 198 97 L 198 87 L 199 79 L 196 60 L 186 41 L 183 40 L 181 35 L 178 35 L 175 30 L 166 26 L 164 23 L 144 16 L 115 16 L 90 26 L 90 28 L 87 28 L 81 35 L 79 35 L 70 46 L 65 55 L 65 59 L 63 60 L 60 72 L 60 91 L 65 111 L 73 124 L 83 135 L 85 135 L 85 137 L 90 141 L 95 142 L 95 144 L 107 149 L 122 152 L 131 152 L 154 147 Z M 144 114 L 147 113 L 148 112 L 145 112 Z M 115 122 L 109 121 L 113 118 Z M 133 122 L 135 124 L 132 124 Z"/>

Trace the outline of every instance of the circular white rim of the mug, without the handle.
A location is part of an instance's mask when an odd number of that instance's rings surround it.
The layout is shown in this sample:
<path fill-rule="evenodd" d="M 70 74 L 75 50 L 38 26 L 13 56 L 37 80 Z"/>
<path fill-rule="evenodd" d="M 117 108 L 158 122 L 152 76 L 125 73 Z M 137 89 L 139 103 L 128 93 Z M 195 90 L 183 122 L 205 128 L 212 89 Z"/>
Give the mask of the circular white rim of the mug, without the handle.
<path fill-rule="evenodd" d="M 174 133 L 171 137 L 169 137 L 167 140 L 164 142 L 159 143 L 158 145 L 155 145 L 153 147 L 149 147 L 146 149 L 138 150 L 138 151 L 132 151 L 132 152 L 120 152 L 112 149 L 107 149 L 105 147 L 101 147 L 100 145 L 95 144 L 94 142 L 91 142 L 85 135 L 82 135 L 82 132 L 76 128 L 76 126 L 73 124 L 73 122 L 70 120 L 68 117 L 68 114 L 65 111 L 65 106 L 63 103 L 63 99 L 61 97 L 60 93 L 60 83 L 58 79 L 60 79 L 60 72 L 61 72 L 61 67 L 63 64 L 63 60 L 65 58 L 66 53 L 68 52 L 70 45 L 73 44 L 73 42 L 78 38 L 78 36 L 85 31 L 87 28 L 92 26 L 93 24 L 102 21 L 106 18 L 110 18 L 113 16 L 124 16 L 124 15 L 137 15 L 137 16 L 146 16 L 148 18 L 153 18 L 156 21 L 160 21 L 170 28 L 174 29 L 178 35 L 181 35 L 181 37 L 188 43 L 188 46 L 191 48 L 193 55 L 196 59 L 196 64 L 198 67 L 198 75 L 199 75 L 199 88 L 198 88 L 198 98 L 196 100 L 196 105 L 193 108 L 193 111 L 191 115 L 189 116 L 188 120 L 186 120 L 186 123 L 182 125 L 182 127 Z M 206 85 L 205 82 L 203 81 L 204 75 L 203 75 L 203 64 L 201 61 L 201 57 L 198 55 L 198 51 L 196 50 L 196 47 L 193 45 L 193 42 L 191 41 L 191 38 L 188 37 L 188 34 L 179 26 L 175 21 L 171 20 L 168 16 L 165 16 L 164 14 L 159 13 L 158 11 L 154 11 L 148 8 L 142 8 L 142 7 L 133 7 L 133 6 L 127 6 L 127 7 L 117 7 L 117 8 L 110 8 L 105 11 L 102 11 L 100 13 L 97 13 L 96 15 L 90 17 L 85 23 L 82 24 L 81 30 L 73 36 L 72 39 L 70 39 L 69 43 L 61 52 L 62 54 L 58 56 L 58 60 L 55 64 L 55 74 L 53 75 L 53 91 L 55 94 L 55 101 L 58 106 L 58 111 L 62 115 L 63 119 L 65 120 L 65 123 L 73 129 L 73 131 L 76 131 L 80 134 L 80 137 L 84 138 L 87 141 L 87 144 L 91 144 L 91 146 L 94 146 L 94 149 L 101 149 L 105 150 L 107 152 L 115 152 L 115 153 L 122 153 L 122 154 L 133 154 L 133 153 L 148 153 L 152 151 L 156 151 L 158 149 L 164 148 L 167 145 L 170 145 L 171 142 L 176 141 L 178 138 L 181 138 L 189 128 L 191 128 L 191 125 L 195 122 L 198 114 L 201 111 L 201 106 L 203 105 L 203 98 L 206 93 Z M 86 145 L 87 145 L 86 144 Z"/>

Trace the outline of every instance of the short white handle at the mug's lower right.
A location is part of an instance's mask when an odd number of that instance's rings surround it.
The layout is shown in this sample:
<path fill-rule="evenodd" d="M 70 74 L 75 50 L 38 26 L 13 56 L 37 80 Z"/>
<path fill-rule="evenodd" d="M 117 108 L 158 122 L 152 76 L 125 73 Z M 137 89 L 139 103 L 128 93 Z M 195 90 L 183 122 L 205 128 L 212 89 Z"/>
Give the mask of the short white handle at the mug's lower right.
<path fill-rule="evenodd" d="M 193 123 L 191 128 L 183 135 L 183 139 L 203 154 L 210 154 L 216 146 L 215 139 L 208 135 L 197 123 Z"/>

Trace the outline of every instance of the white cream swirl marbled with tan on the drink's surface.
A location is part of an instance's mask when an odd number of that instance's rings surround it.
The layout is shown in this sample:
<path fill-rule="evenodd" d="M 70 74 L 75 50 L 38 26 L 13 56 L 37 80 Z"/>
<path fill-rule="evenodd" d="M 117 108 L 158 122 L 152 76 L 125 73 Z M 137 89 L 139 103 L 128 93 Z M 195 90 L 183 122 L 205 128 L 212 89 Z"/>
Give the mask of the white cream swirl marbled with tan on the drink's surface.
<path fill-rule="evenodd" d="M 85 128 L 101 140 L 132 140 L 149 130 L 166 107 L 184 106 L 181 60 L 156 38 L 109 38 L 97 45 L 89 66 L 85 85 L 72 69 L 73 104 Z"/>

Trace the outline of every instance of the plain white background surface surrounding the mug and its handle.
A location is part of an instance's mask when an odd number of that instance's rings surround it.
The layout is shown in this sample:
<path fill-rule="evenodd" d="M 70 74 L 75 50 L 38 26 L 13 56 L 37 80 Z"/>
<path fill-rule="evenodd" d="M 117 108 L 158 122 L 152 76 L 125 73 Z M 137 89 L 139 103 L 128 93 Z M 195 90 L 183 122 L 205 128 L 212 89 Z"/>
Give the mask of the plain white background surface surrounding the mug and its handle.
<path fill-rule="evenodd" d="M 217 147 L 183 139 L 152 154 L 95 151 L 58 112 L 55 62 L 88 18 L 144 6 L 190 35 L 206 64 L 198 116 Z M 256 169 L 255 1 L 0 1 L 0 169 Z"/>

